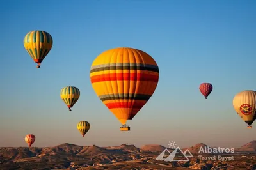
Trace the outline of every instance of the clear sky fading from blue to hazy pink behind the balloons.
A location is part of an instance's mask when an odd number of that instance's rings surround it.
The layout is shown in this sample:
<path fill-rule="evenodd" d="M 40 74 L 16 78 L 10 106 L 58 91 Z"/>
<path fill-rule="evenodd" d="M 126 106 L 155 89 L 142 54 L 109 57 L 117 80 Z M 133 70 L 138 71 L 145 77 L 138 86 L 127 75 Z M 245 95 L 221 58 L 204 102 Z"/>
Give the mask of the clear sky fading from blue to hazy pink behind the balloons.
<path fill-rule="evenodd" d="M 0 5 L 0 146 L 62 143 L 111 146 L 205 143 L 238 147 L 256 139 L 232 106 L 236 93 L 256 88 L 256 1 L 3 1 Z M 36 69 L 24 49 L 32 30 L 52 35 L 52 50 Z M 90 66 L 105 50 L 134 47 L 159 66 L 157 89 L 130 132 L 102 104 Z M 198 86 L 211 82 L 205 100 Z M 60 89 L 76 86 L 72 112 Z M 76 125 L 91 129 L 81 137 Z"/>

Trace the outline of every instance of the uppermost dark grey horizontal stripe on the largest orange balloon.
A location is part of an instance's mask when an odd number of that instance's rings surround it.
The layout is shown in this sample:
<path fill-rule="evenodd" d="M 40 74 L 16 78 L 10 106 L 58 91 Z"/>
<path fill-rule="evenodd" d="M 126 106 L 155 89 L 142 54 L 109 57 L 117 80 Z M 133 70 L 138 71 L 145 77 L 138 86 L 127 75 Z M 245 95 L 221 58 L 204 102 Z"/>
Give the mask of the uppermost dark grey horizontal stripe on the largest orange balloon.
<path fill-rule="evenodd" d="M 90 73 L 107 70 L 145 70 L 159 72 L 157 65 L 148 65 L 143 63 L 106 63 L 104 65 L 95 65 L 91 67 Z"/>

